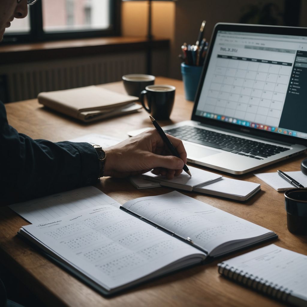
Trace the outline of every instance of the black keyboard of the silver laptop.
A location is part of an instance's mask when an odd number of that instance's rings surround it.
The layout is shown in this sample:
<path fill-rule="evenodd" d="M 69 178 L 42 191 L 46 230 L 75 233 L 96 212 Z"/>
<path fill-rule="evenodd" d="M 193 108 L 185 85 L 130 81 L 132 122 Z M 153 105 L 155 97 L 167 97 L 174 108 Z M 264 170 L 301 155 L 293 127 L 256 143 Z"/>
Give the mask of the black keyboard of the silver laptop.
<path fill-rule="evenodd" d="M 170 130 L 164 130 L 164 132 L 184 141 L 218 148 L 258 160 L 263 160 L 263 158 L 289 150 L 289 148 L 281 146 L 251 141 L 245 138 L 238 138 L 191 126 L 181 126 Z"/>

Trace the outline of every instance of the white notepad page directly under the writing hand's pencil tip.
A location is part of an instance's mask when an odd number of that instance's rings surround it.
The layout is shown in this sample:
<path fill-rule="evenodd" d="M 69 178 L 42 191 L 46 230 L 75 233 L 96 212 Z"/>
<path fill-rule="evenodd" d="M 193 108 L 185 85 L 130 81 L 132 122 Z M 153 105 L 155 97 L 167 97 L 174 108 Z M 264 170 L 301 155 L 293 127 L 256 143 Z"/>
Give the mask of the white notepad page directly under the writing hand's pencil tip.
<path fill-rule="evenodd" d="M 180 185 L 194 187 L 196 185 L 201 185 L 205 182 L 216 180 L 222 177 L 221 175 L 207 172 L 203 169 L 198 169 L 192 166 L 189 166 L 189 170 L 192 174 L 192 177 L 185 173 L 185 171 L 183 171 L 179 176 L 176 176 L 173 179 L 167 179 L 165 176 L 161 175 L 154 175 L 153 173 L 151 173 L 151 171 L 143 174 L 143 176 L 145 178 L 148 178 L 149 180 L 153 179 L 155 181 L 161 182 L 161 184 L 171 183 L 173 184 L 173 187 L 174 185 L 178 185 L 178 188 L 180 188 Z"/>

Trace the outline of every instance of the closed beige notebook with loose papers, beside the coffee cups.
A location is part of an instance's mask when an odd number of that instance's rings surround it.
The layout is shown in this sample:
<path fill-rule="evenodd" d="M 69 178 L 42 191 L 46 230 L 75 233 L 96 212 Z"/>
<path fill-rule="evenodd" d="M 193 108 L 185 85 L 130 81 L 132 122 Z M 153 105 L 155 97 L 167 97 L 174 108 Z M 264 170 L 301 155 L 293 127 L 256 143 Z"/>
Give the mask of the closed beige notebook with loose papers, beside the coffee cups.
<path fill-rule="evenodd" d="M 134 103 L 138 97 L 119 94 L 94 85 L 42 92 L 37 98 L 44 106 L 84 122 L 123 115 L 141 108 Z"/>

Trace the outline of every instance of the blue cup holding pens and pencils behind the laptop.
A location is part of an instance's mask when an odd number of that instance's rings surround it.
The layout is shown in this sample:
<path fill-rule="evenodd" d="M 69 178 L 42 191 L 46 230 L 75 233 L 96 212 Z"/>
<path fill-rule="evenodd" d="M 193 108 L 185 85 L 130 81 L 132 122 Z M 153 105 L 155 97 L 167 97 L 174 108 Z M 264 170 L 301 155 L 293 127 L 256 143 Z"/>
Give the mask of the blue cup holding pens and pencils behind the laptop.
<path fill-rule="evenodd" d="M 185 89 L 185 99 L 194 101 L 202 68 L 202 66 L 191 66 L 181 63 L 181 74 L 183 87 Z"/>

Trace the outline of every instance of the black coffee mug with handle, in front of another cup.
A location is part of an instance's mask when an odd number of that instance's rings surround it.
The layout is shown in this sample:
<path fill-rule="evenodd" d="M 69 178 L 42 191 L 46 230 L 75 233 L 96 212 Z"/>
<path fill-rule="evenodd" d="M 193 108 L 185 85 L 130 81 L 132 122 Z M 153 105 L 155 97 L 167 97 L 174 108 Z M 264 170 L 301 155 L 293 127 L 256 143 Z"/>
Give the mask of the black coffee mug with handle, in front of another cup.
<path fill-rule="evenodd" d="M 175 90 L 176 87 L 172 85 L 149 85 L 141 92 L 140 101 L 154 119 L 169 119 L 174 105 Z M 145 105 L 145 96 L 148 107 Z"/>

